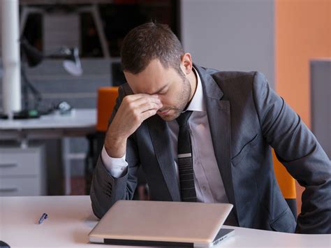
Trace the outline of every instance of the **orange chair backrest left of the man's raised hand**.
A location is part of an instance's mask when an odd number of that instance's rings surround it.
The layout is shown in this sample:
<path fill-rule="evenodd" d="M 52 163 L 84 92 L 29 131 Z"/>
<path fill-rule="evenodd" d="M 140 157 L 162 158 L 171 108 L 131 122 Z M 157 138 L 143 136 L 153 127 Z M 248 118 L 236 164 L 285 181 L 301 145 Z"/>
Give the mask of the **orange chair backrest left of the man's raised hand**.
<path fill-rule="evenodd" d="M 108 121 L 115 107 L 117 96 L 118 87 L 101 87 L 98 89 L 98 118 L 96 131 L 107 131 Z"/>

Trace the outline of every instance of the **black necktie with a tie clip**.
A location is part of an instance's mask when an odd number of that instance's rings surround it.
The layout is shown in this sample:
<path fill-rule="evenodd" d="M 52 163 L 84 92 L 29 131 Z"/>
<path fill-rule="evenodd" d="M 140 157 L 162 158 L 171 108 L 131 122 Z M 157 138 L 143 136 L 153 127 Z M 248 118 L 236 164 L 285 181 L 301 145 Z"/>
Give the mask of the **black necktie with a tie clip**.
<path fill-rule="evenodd" d="M 190 128 L 188 124 L 192 111 L 182 112 L 177 117 L 178 133 L 178 170 L 182 201 L 196 202 L 196 188 L 193 177 L 193 155 L 191 147 Z"/>

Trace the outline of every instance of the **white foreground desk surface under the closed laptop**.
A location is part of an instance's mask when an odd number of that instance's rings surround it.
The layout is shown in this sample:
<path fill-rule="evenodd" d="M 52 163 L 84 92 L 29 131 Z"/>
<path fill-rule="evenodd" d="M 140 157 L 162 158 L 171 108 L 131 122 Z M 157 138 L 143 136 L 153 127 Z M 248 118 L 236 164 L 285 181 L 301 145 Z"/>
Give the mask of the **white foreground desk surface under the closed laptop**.
<path fill-rule="evenodd" d="M 37 224 L 41 214 L 48 219 Z M 0 240 L 10 247 L 119 247 L 89 244 L 97 219 L 89 196 L 0 198 Z M 276 233 L 235 228 L 235 236 L 219 247 L 328 247 L 331 235 Z"/>

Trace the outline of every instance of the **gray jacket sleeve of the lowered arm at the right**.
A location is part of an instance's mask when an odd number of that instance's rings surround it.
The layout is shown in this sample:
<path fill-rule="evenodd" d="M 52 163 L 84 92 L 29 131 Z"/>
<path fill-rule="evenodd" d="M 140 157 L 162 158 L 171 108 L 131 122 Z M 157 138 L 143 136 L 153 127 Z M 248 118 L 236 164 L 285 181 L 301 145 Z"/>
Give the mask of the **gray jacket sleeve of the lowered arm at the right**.
<path fill-rule="evenodd" d="M 315 136 L 267 84 L 253 79 L 253 98 L 260 126 L 277 158 L 304 187 L 297 233 L 331 233 L 331 163 Z"/>

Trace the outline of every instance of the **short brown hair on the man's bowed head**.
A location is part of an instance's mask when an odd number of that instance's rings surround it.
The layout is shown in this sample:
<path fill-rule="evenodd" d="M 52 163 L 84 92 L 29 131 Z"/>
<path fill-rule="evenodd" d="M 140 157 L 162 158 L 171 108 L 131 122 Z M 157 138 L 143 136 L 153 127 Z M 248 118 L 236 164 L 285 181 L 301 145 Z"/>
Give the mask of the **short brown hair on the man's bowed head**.
<path fill-rule="evenodd" d="M 121 49 L 122 69 L 137 74 L 145 70 L 150 61 L 159 59 L 165 68 L 172 67 L 182 75 L 183 54 L 182 44 L 168 25 L 147 22 L 125 36 Z"/>

